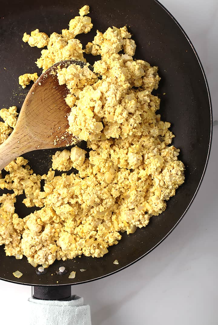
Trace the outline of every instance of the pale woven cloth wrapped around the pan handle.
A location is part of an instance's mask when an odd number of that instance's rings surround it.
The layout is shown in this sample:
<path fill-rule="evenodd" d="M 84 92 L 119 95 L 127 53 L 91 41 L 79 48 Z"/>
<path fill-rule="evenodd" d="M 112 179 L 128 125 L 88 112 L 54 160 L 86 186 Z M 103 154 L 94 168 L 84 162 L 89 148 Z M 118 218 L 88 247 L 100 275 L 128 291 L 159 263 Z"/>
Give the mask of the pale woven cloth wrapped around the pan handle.
<path fill-rule="evenodd" d="M 39 300 L 29 298 L 29 325 L 91 325 L 90 307 L 83 298 L 71 300 Z"/>

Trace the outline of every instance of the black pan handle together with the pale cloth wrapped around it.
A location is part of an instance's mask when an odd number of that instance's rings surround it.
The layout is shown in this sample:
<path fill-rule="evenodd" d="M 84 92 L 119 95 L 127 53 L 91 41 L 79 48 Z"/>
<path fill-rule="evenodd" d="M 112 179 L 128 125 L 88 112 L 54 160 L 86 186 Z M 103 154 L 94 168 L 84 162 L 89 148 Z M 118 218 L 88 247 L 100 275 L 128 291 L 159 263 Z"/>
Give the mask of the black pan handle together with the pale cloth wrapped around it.
<path fill-rule="evenodd" d="M 71 286 L 33 287 L 29 298 L 29 325 L 91 325 L 90 307 L 71 295 Z"/>

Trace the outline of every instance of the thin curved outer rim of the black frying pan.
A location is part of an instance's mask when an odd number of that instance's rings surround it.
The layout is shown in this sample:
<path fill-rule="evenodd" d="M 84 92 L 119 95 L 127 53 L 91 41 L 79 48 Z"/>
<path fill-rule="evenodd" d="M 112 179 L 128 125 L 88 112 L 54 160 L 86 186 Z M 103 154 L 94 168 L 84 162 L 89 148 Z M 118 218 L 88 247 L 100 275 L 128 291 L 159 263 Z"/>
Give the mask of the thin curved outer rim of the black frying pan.
<path fill-rule="evenodd" d="M 64 284 L 31 284 L 31 283 L 23 283 L 23 282 L 19 282 L 19 281 L 13 281 L 13 280 L 9 280 L 9 279 L 4 279 L 4 278 L 1 278 L 0 277 L 0 280 L 3 280 L 3 281 L 7 281 L 7 282 L 11 282 L 11 283 L 16 283 L 16 284 L 23 284 L 23 285 L 27 285 L 27 286 L 66 286 L 66 285 L 78 285 L 78 284 L 83 284 L 83 283 L 88 283 L 88 282 L 92 282 L 92 281 L 96 281 L 96 280 L 99 280 L 99 279 L 103 279 L 103 278 L 106 278 L 110 275 L 113 275 L 117 272 L 120 272 L 122 270 L 124 270 L 125 268 L 133 265 L 134 263 L 138 262 L 139 260 L 141 260 L 143 257 L 145 257 L 147 254 L 151 253 L 157 246 L 159 246 L 169 235 L 170 233 L 175 229 L 175 227 L 178 226 L 178 224 L 180 223 L 180 221 L 184 218 L 184 215 L 187 213 L 187 211 L 189 210 L 191 204 L 193 203 L 197 193 L 198 193 L 198 190 L 202 184 L 202 181 L 203 181 L 203 178 L 204 178 L 204 175 L 205 175 L 205 172 L 206 172 L 206 169 L 207 169 L 207 165 L 208 165 L 208 162 L 209 162 L 209 157 L 210 157 L 210 152 L 211 152 L 211 144 L 212 144 L 212 133 L 213 133 L 213 117 L 212 117 L 212 102 L 211 102 L 211 94 L 210 94 L 210 89 L 209 89 L 209 85 L 208 85 L 208 81 L 207 81 L 207 77 L 206 77 L 206 74 L 205 74 L 205 71 L 204 71 L 204 68 L 203 68 L 203 65 L 201 63 L 201 60 L 198 56 L 198 53 L 194 47 L 194 45 L 192 44 L 190 38 L 188 37 L 187 33 L 184 31 L 183 27 L 180 25 L 180 23 L 174 18 L 174 16 L 170 13 L 170 11 L 164 6 L 162 5 L 158 0 L 153 0 L 154 2 L 157 3 L 157 5 L 159 5 L 169 16 L 171 19 L 173 19 L 173 21 L 176 23 L 176 25 L 180 28 L 180 30 L 183 32 L 186 40 L 188 41 L 188 43 L 191 45 L 192 47 L 192 50 L 198 60 L 198 63 L 199 63 L 199 66 L 200 66 L 200 69 L 202 71 L 202 74 L 203 74 L 203 78 L 204 78 L 204 81 L 205 81 L 205 84 L 206 84 L 206 88 L 207 88 L 207 94 L 208 94 L 208 99 L 209 99 L 209 107 L 210 107 L 210 117 L 211 117 L 211 128 L 210 128 L 210 139 L 209 139 L 209 148 L 208 148 L 208 153 L 207 153 L 207 159 L 206 159 L 206 162 L 205 162 L 205 165 L 204 165 L 204 170 L 202 172 L 202 175 L 201 175 L 201 178 L 200 178 L 200 181 L 198 183 L 198 187 L 191 199 L 191 201 L 189 202 L 187 208 L 185 209 L 184 213 L 182 214 L 182 216 L 180 217 L 180 219 L 176 222 L 176 224 L 170 229 L 170 231 L 161 239 L 159 240 L 159 242 L 154 245 L 149 251 L 147 251 L 146 253 L 144 253 L 142 256 L 138 257 L 137 259 L 135 259 L 134 261 L 132 261 L 131 263 L 113 271 L 113 272 L 110 272 L 108 274 L 105 274 L 105 275 L 102 275 L 100 277 L 96 277 L 94 279 L 90 279 L 90 280 L 85 280 L 85 281 L 80 281 L 80 282 L 76 282 L 76 283 L 64 283 Z"/>

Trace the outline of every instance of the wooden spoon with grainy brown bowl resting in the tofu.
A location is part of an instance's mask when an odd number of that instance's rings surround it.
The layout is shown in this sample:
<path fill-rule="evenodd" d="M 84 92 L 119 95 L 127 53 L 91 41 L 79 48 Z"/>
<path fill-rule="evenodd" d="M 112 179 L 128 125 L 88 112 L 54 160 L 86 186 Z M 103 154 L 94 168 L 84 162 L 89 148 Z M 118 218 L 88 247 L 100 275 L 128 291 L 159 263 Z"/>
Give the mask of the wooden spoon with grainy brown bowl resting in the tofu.
<path fill-rule="evenodd" d="M 78 60 L 61 61 L 36 80 L 23 102 L 13 132 L 0 146 L 0 171 L 26 152 L 61 148 L 78 142 L 66 132 L 71 109 L 64 98 L 69 91 L 66 85 L 59 85 L 56 76 L 58 68 L 72 63 L 81 67 L 86 64 Z"/>

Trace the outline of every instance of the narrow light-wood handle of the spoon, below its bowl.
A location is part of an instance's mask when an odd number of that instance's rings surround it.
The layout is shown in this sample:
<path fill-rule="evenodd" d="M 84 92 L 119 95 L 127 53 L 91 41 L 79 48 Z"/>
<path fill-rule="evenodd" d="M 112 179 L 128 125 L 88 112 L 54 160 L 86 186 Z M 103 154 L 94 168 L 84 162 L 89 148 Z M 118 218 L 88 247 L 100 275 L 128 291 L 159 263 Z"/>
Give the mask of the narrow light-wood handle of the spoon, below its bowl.
<path fill-rule="evenodd" d="M 22 136 L 20 133 L 14 130 L 7 140 L 0 145 L 0 171 L 15 158 L 33 150 L 31 139 Z"/>

